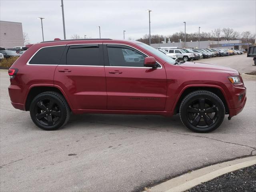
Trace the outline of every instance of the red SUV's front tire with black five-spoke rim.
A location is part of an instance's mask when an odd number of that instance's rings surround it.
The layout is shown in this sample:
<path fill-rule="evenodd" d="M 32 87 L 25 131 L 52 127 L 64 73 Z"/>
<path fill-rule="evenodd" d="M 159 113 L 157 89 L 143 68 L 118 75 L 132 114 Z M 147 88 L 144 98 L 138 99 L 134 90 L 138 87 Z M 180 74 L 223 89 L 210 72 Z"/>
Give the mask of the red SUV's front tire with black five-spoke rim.
<path fill-rule="evenodd" d="M 212 132 L 223 122 L 225 107 L 214 93 L 198 90 L 188 94 L 180 104 L 180 120 L 198 133 Z"/>

